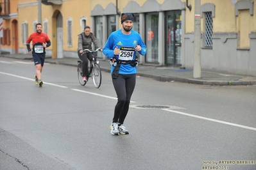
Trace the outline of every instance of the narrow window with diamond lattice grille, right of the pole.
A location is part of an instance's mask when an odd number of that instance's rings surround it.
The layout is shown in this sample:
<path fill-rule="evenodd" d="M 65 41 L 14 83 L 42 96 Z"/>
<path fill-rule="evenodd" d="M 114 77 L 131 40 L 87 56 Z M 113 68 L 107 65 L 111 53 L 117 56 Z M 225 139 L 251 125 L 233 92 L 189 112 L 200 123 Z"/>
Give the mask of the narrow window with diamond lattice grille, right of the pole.
<path fill-rule="evenodd" d="M 212 12 L 205 12 L 205 47 L 212 47 Z"/>

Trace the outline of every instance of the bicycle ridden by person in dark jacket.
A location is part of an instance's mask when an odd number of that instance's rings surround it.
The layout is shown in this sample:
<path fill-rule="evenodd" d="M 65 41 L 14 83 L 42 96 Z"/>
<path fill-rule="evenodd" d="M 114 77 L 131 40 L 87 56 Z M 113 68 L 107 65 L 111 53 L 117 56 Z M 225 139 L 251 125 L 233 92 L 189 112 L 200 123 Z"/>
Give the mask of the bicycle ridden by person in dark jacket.
<path fill-rule="evenodd" d="M 98 50 L 100 50 L 100 48 L 96 50 L 85 49 L 81 54 L 83 55 L 87 51 L 92 52 L 92 61 L 90 62 L 90 66 L 88 67 L 88 70 L 89 70 L 89 77 L 92 77 L 92 81 L 96 88 L 99 88 L 99 86 L 101 86 L 101 68 L 99 67 L 99 61 L 95 61 L 94 59 L 94 55 L 96 52 L 98 52 Z M 87 82 L 83 81 L 82 63 L 83 61 L 78 61 L 78 81 L 80 82 L 81 86 L 85 86 Z"/>

